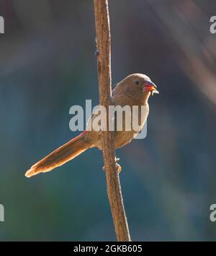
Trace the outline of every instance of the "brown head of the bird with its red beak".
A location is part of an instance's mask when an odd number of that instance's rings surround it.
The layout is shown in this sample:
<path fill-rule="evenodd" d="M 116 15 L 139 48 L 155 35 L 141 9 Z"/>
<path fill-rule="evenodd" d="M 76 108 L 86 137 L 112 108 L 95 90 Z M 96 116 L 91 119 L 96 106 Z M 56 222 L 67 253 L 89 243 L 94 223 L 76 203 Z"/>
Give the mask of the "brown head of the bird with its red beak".
<path fill-rule="evenodd" d="M 141 99 L 148 101 L 150 95 L 159 93 L 156 85 L 145 74 L 130 74 L 125 77 L 122 82 L 117 85 L 117 88 L 128 95 L 130 98 Z"/>

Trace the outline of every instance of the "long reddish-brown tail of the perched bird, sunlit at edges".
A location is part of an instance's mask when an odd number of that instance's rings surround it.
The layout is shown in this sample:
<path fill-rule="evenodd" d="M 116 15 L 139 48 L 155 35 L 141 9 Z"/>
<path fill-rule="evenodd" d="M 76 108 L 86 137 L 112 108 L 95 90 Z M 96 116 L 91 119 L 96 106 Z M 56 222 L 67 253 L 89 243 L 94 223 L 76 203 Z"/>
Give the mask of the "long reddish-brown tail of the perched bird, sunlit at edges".
<path fill-rule="evenodd" d="M 30 176 L 40 174 L 40 172 L 52 171 L 54 168 L 62 166 L 64 163 L 76 158 L 77 155 L 80 155 L 88 148 L 91 148 L 93 145 L 87 140 L 86 133 L 87 132 L 82 132 L 81 135 L 68 141 L 65 145 L 35 163 L 34 166 L 26 172 L 25 176 L 29 178 Z"/>

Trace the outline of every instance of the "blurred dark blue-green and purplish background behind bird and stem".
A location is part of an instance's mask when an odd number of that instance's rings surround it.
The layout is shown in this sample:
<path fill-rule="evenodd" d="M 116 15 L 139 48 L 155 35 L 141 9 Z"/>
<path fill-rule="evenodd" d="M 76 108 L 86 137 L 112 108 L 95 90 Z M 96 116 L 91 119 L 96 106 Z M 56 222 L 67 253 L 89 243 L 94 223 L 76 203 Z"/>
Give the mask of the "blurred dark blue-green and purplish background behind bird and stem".
<path fill-rule="evenodd" d="M 158 85 L 148 136 L 117 150 L 133 240 L 215 240 L 216 34 L 212 0 L 109 1 L 112 82 Z M 1 0 L 0 240 L 114 240 L 102 153 L 26 179 L 78 132 L 69 108 L 98 103 L 93 1 Z"/>

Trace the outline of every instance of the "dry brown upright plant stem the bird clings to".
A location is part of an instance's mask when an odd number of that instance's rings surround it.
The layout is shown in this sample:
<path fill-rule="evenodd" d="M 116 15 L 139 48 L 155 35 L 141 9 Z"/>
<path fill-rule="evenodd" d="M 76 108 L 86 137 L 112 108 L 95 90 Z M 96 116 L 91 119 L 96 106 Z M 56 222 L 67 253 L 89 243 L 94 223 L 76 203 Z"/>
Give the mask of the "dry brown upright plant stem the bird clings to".
<path fill-rule="evenodd" d="M 96 56 L 99 77 L 99 103 L 108 110 L 112 96 L 111 78 L 111 47 L 109 28 L 109 9 L 107 0 L 94 0 L 94 14 L 96 25 Z M 108 111 L 107 111 L 108 113 Z M 107 127 L 109 115 L 107 115 Z M 106 170 L 107 193 L 109 205 L 112 211 L 114 229 L 118 241 L 131 241 L 130 233 L 125 215 L 125 208 L 120 186 L 120 177 L 115 166 L 114 134 L 113 132 L 102 132 L 104 167 Z"/>

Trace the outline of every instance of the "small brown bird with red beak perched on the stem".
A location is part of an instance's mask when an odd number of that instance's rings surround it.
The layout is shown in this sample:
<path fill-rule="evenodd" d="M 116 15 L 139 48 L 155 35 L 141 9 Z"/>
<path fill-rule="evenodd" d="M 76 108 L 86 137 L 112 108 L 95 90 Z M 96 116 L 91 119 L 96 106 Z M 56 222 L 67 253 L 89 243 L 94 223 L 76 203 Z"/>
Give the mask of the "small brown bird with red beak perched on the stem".
<path fill-rule="evenodd" d="M 114 113 L 114 148 L 122 148 L 135 138 L 143 128 L 149 114 L 148 99 L 150 95 L 159 93 L 157 86 L 145 74 L 135 73 L 130 74 L 121 82 L 118 82 L 112 90 L 111 105 L 112 106 L 138 106 L 137 114 L 134 114 L 135 121 L 140 124 L 139 129 L 134 129 L 130 123 L 131 129 L 126 129 L 127 121 L 125 112 L 121 119 L 117 119 L 117 114 Z M 141 111 L 143 107 L 144 111 Z M 132 112 L 133 114 L 133 112 Z M 52 171 L 58 166 L 71 161 L 76 156 L 84 153 L 89 148 L 98 148 L 102 150 L 102 132 L 94 129 L 89 129 L 92 122 L 98 114 L 92 114 L 86 124 L 86 130 L 72 140 L 66 142 L 60 148 L 56 149 L 42 160 L 35 163 L 25 176 L 27 178 L 36 174 Z M 132 119 L 133 120 L 133 119 Z M 117 129 L 117 124 L 122 124 L 122 130 Z M 128 127 L 127 127 L 128 128 Z M 118 161 L 119 159 L 117 159 Z M 119 166 L 119 165 L 118 165 Z"/>

